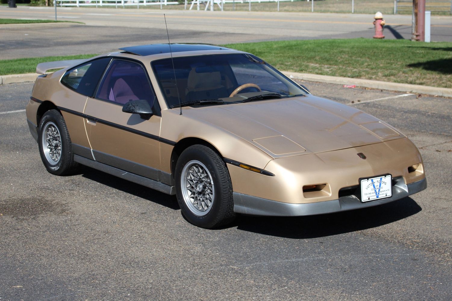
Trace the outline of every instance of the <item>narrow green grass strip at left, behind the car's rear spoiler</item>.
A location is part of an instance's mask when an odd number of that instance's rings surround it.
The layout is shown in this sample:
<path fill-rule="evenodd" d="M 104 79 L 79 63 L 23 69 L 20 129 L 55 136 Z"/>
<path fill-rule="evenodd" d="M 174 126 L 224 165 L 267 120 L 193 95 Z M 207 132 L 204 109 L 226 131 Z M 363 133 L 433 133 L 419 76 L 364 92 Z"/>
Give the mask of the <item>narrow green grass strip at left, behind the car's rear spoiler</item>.
<path fill-rule="evenodd" d="M 36 66 L 39 63 L 47 61 L 86 59 L 95 55 L 96 54 L 80 54 L 74 56 L 45 56 L 14 60 L 0 60 L 0 75 L 33 73 L 36 72 Z"/>

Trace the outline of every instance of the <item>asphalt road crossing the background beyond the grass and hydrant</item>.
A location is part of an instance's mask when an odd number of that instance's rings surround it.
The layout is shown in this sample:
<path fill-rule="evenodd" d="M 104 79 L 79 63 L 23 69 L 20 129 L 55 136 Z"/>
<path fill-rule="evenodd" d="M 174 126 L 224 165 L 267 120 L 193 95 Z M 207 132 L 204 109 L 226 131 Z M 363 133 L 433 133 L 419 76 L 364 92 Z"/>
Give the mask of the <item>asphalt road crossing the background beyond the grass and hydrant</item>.
<path fill-rule="evenodd" d="M 58 8 L 59 20 L 86 25 L 1 25 L 1 58 L 104 53 L 121 46 L 168 42 L 164 13 L 171 42 L 225 44 L 374 35 L 370 14 Z M 54 19 L 54 10 L 0 6 L 0 18 Z M 387 39 L 411 38 L 411 16 L 386 15 L 385 20 Z M 432 41 L 452 42 L 452 17 L 433 16 L 431 34 Z"/>

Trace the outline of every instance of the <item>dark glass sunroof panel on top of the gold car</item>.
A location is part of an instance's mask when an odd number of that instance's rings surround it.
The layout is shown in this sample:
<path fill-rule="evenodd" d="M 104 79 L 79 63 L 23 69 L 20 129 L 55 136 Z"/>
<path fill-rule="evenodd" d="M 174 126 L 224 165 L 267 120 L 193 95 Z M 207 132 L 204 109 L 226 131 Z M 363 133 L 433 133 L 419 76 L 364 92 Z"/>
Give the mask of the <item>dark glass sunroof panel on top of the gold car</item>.
<path fill-rule="evenodd" d="M 210 44 L 171 43 L 171 52 L 221 50 L 221 49 L 229 49 L 229 48 L 220 47 L 220 46 L 216 46 L 216 45 L 210 45 Z M 123 48 L 119 48 L 119 50 L 137 54 L 139 56 L 149 56 L 151 54 L 170 53 L 170 45 L 169 44 L 150 44 L 150 45 L 123 47 Z"/>

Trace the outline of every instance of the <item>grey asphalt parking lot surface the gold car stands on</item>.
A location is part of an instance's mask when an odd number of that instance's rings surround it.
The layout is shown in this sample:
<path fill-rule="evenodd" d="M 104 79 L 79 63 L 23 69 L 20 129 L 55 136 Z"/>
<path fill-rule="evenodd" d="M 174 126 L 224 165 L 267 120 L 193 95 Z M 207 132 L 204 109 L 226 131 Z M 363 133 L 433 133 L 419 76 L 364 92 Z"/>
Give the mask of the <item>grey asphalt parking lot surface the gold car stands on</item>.
<path fill-rule="evenodd" d="M 409 136 L 427 190 L 200 229 L 174 197 L 89 168 L 47 173 L 25 113 L 10 112 L 33 84 L 0 86 L 1 300 L 451 300 L 452 99 L 304 84 Z"/>

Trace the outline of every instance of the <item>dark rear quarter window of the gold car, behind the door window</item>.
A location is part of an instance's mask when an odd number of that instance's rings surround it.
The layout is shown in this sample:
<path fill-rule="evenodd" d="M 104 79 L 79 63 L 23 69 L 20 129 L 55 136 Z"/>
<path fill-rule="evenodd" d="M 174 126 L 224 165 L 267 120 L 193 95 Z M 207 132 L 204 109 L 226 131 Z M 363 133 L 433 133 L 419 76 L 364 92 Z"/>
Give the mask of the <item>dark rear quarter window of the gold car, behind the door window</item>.
<path fill-rule="evenodd" d="M 72 68 L 63 75 L 61 84 L 77 93 L 91 97 L 110 61 L 111 57 L 103 57 Z"/>

